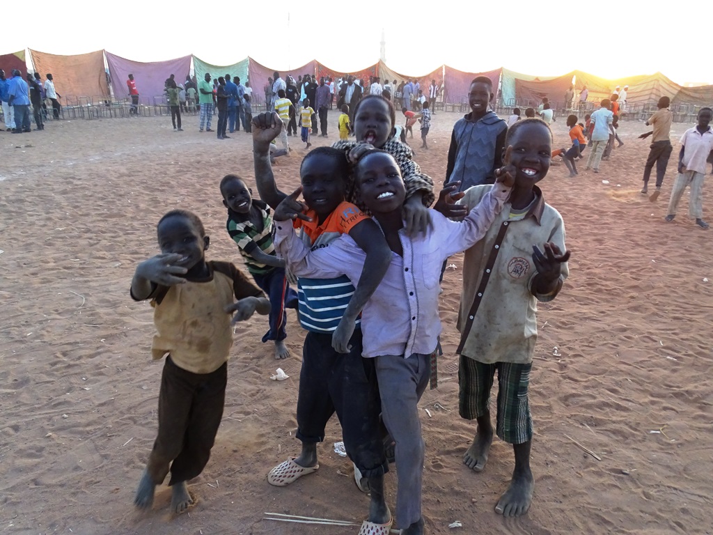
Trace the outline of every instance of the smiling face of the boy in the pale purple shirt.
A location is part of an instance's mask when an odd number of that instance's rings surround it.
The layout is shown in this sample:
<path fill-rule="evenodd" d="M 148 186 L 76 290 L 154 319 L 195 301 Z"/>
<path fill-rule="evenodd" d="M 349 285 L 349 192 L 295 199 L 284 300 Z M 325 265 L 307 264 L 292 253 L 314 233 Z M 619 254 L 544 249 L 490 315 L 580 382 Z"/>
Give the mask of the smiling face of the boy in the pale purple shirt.
<path fill-rule="evenodd" d="M 374 215 L 401 211 L 406 186 L 399 164 L 384 152 L 369 152 L 356 165 L 359 197 Z"/>

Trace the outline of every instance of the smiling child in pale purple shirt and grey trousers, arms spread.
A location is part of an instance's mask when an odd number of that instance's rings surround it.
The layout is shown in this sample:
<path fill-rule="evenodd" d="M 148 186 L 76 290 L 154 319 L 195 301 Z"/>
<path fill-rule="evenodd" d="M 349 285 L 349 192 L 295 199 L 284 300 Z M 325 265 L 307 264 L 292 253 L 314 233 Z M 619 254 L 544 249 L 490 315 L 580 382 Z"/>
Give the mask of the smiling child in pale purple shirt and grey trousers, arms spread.
<path fill-rule="evenodd" d="M 491 192 L 482 195 L 481 203 L 474 205 L 463 223 L 430 210 L 433 230 L 409 237 L 401 218 L 406 186 L 394 157 L 386 151 L 367 151 L 359 159 L 354 174 L 359 197 L 374 214 L 391 248 L 389 270 L 379 291 L 374 292 L 364 307 L 363 355 L 366 360 L 376 361 L 381 414 L 396 442 L 396 522 L 401 534 L 423 534 L 424 440 L 418 403 L 429 382 L 431 357 L 441 332 L 438 319 L 441 264 L 486 233 L 510 193 L 513 176 L 503 173 L 498 184 L 486 186 Z M 448 190 L 456 187 L 451 185 Z M 284 223 L 302 215 L 296 202 L 299 193 L 298 188 L 275 210 L 275 246 L 289 268 L 297 275 L 346 274 L 350 280 L 361 282 L 364 252 L 349 236 L 342 235 L 328 248 L 312 248 L 310 252 L 294 234 L 292 225 Z M 383 492 L 379 509 L 388 511 Z M 362 524 L 360 533 L 389 533 L 391 521 L 380 526 L 373 524 Z"/>

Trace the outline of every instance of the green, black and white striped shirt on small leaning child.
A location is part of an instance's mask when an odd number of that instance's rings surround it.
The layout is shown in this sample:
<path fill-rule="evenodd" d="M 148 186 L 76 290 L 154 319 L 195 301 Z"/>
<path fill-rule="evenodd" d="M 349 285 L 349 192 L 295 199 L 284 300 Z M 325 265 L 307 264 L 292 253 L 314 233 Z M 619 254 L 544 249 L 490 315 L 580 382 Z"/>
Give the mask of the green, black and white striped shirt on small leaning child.
<path fill-rule="evenodd" d="M 270 208 L 262 200 L 253 199 L 251 210 L 253 209 L 260 210 L 262 232 L 258 232 L 255 225 L 247 219 L 247 214 L 245 216 L 246 219 L 242 220 L 241 214 L 228 209 L 227 233 L 230 234 L 230 238 L 235 240 L 238 248 L 240 248 L 240 254 L 245 260 L 245 267 L 247 267 L 248 272 L 252 275 L 265 275 L 274 270 L 275 267 L 256 262 L 250 253 L 260 248 L 266 255 L 275 256 L 275 245 L 272 245 L 272 216 L 270 215 Z"/>

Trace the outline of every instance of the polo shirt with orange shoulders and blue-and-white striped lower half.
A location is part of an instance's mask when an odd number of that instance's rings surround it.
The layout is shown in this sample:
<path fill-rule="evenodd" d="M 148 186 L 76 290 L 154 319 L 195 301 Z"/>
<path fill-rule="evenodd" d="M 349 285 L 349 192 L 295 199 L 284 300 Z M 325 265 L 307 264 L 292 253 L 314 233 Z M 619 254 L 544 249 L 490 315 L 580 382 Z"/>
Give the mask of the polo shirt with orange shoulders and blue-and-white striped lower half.
<path fill-rule="evenodd" d="M 302 241 L 313 250 L 348 234 L 357 223 L 369 217 L 347 201 L 337 206 L 322 225 L 317 224 L 314 210 L 309 210 L 307 215 L 312 221 L 294 220 L 294 228 L 302 228 Z M 354 295 L 354 286 L 346 275 L 333 279 L 299 277 L 297 294 L 302 327 L 312 332 L 333 332 Z M 361 317 L 356 320 L 356 326 L 361 327 L 360 324 Z"/>

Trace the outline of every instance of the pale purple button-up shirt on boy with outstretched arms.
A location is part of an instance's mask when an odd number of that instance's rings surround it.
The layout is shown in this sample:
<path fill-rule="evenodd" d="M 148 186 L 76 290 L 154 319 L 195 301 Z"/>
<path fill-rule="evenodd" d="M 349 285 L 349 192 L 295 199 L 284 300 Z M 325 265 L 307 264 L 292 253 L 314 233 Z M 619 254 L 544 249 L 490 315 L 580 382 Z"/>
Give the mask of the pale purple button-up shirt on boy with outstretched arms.
<path fill-rule="evenodd" d="M 461 223 L 429 210 L 434 229 L 427 235 L 409 238 L 399 230 L 404 257 L 391 253 L 386 275 L 361 312 L 363 357 L 408 358 L 435 350 L 441 334 L 438 293 L 443 261 L 481 240 L 509 195 L 510 188 L 496 184 Z M 348 234 L 310 252 L 294 233 L 292 222 L 275 221 L 275 227 L 275 249 L 294 275 L 347 275 L 354 286 L 359 284 L 366 253 Z"/>

